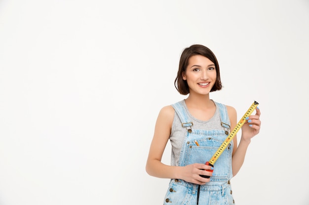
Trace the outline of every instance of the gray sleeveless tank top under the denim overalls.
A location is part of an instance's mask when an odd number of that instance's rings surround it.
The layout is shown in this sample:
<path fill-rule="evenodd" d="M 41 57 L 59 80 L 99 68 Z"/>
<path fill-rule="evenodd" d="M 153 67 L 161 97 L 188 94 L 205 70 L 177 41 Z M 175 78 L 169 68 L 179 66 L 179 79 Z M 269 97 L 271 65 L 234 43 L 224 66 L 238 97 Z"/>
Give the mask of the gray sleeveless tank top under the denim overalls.
<path fill-rule="evenodd" d="M 185 103 L 185 100 L 180 101 L 181 105 L 185 108 L 188 116 L 193 122 L 192 129 L 201 129 L 201 130 L 226 130 L 223 126 L 221 126 L 221 118 L 219 108 L 216 105 L 216 111 L 213 117 L 211 117 L 207 121 L 202 121 L 193 117 L 188 110 L 188 107 Z M 229 117 L 227 117 L 229 119 Z M 225 122 L 227 124 L 231 124 L 230 120 Z M 230 131 L 230 130 L 229 130 Z M 169 140 L 172 146 L 171 153 L 171 166 L 179 166 L 179 157 L 181 152 L 181 147 L 184 142 L 184 138 L 187 134 L 187 129 L 182 126 L 182 122 L 180 121 L 179 116 L 176 111 L 174 114 L 174 120 L 172 124 L 171 135 Z"/>

